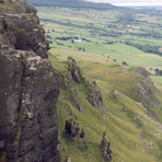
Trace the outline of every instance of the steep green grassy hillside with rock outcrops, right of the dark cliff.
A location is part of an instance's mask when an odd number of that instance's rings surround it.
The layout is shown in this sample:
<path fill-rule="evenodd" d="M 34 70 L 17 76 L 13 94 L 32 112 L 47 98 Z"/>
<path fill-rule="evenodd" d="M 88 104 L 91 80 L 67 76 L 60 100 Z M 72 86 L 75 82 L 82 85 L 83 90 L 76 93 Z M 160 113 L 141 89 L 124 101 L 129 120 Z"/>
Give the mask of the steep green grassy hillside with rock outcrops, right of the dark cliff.
<path fill-rule="evenodd" d="M 69 68 L 73 63 L 71 60 L 61 61 L 55 54 L 50 54 L 49 58 L 60 74 L 61 93 L 57 107 L 61 161 L 67 160 L 69 155 L 71 161 L 77 162 L 102 161 L 100 143 L 104 131 L 112 143 L 113 162 L 162 160 L 162 125 L 151 115 L 151 109 L 157 113 L 159 108 L 158 106 L 152 108 L 147 104 L 143 106 L 142 97 L 137 102 L 135 95 L 138 96 L 138 93 L 131 96 L 131 91 L 143 76 L 135 72 L 135 69 L 128 70 L 128 67 L 117 63 L 79 61 L 82 77 L 78 82 L 71 76 Z M 89 95 L 93 89 L 101 91 L 103 108 L 96 108 L 90 103 Z M 159 100 L 162 99 L 160 94 L 161 92 L 157 92 Z M 161 120 L 161 111 L 159 113 L 157 119 Z M 66 137 L 67 119 L 77 119 L 80 129 L 85 130 L 84 139 L 73 142 Z"/>

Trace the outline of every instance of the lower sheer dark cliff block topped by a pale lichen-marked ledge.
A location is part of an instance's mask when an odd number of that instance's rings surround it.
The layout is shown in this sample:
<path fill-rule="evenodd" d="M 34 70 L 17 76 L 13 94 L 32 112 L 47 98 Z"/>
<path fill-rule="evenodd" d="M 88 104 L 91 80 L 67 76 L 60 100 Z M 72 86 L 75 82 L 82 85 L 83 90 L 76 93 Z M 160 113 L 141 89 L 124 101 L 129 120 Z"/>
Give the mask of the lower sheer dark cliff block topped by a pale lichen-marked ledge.
<path fill-rule="evenodd" d="M 34 53 L 0 53 L 0 142 L 8 161 L 58 161 L 57 73 Z"/>

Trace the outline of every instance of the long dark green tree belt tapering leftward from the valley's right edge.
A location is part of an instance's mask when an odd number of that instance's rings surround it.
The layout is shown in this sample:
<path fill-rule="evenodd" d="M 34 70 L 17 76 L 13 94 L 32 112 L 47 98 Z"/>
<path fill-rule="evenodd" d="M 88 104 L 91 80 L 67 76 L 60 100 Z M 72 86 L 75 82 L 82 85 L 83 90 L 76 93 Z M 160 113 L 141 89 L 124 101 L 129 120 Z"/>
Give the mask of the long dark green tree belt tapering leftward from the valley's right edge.
<path fill-rule="evenodd" d="M 144 53 L 151 53 L 151 54 L 158 54 L 158 55 L 162 55 L 162 53 L 159 50 L 158 46 L 151 46 L 151 45 L 140 45 L 140 44 L 135 44 L 131 42 L 126 42 L 126 45 L 136 47 Z"/>

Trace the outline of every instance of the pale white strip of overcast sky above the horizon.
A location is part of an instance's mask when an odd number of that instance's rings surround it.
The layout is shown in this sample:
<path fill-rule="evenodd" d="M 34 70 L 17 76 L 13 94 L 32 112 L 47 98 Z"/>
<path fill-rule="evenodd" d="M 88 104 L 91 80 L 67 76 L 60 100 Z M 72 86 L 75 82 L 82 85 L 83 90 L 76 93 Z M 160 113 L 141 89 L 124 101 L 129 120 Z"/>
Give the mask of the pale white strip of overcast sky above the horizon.
<path fill-rule="evenodd" d="M 107 2 L 116 5 L 162 5 L 162 0 L 88 0 L 93 2 Z"/>

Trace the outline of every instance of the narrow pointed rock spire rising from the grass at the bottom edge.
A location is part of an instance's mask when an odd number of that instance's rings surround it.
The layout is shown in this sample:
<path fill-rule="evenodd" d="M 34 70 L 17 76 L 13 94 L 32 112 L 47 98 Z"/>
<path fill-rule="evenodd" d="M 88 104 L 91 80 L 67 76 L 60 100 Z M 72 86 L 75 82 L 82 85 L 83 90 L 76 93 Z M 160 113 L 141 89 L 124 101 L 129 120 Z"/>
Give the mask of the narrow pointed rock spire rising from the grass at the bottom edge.
<path fill-rule="evenodd" d="M 111 149 L 111 142 L 107 141 L 107 136 L 106 132 L 103 134 L 103 139 L 100 146 L 103 150 L 103 161 L 104 162 L 111 162 L 112 161 L 112 155 L 113 151 Z"/>

